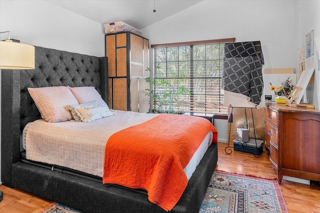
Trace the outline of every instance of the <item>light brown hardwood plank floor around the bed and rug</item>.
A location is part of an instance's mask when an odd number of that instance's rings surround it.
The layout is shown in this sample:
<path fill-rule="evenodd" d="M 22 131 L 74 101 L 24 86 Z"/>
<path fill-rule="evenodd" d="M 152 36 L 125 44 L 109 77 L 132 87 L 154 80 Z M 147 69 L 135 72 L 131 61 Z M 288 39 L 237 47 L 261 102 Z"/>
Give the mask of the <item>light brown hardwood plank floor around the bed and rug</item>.
<path fill-rule="evenodd" d="M 226 146 L 225 143 L 218 143 L 216 170 L 265 178 L 276 177 L 276 172 L 272 169 L 265 151 L 260 158 L 233 151 L 233 148 L 232 153 L 227 155 L 224 152 Z M 312 182 L 309 186 L 283 180 L 280 188 L 289 213 L 320 213 L 319 182 Z M 0 186 L 0 191 L 4 194 L 0 202 L 0 213 L 38 213 L 52 203 L 4 186 Z"/>

